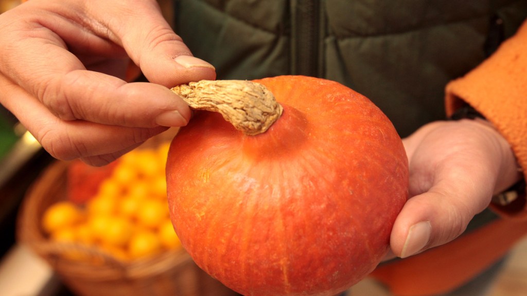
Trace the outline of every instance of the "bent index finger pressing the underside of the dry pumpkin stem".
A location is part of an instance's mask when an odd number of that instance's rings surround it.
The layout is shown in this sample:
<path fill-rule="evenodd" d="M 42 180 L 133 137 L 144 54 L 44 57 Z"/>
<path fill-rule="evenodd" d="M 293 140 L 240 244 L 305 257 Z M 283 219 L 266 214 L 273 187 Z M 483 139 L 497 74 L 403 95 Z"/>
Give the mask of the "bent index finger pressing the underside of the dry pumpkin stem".
<path fill-rule="evenodd" d="M 89 71 L 72 71 L 50 83 L 43 100 L 61 119 L 108 125 L 184 126 L 191 115 L 188 105 L 164 86 L 126 83 Z"/>

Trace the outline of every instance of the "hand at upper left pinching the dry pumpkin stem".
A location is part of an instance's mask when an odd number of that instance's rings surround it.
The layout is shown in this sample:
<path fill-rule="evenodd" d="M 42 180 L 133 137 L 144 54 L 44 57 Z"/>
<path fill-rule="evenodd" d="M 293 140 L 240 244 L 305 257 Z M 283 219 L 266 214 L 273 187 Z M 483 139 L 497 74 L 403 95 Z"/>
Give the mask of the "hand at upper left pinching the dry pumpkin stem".
<path fill-rule="evenodd" d="M 0 103 L 57 159 L 103 165 L 186 125 L 168 87 L 216 77 L 154 0 L 31 0 L 0 32 Z M 127 83 L 130 62 L 151 83 Z"/>

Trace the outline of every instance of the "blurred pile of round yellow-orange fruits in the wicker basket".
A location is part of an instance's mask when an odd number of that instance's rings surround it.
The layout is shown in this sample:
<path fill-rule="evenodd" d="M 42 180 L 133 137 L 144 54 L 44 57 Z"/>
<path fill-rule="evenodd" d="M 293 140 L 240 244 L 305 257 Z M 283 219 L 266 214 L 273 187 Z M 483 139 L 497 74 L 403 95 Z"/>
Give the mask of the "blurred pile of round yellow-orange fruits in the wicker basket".
<path fill-rule="evenodd" d="M 165 143 L 123 155 L 91 199 L 51 205 L 43 230 L 53 241 L 94 246 L 123 261 L 182 248 L 169 218 L 168 148 Z"/>

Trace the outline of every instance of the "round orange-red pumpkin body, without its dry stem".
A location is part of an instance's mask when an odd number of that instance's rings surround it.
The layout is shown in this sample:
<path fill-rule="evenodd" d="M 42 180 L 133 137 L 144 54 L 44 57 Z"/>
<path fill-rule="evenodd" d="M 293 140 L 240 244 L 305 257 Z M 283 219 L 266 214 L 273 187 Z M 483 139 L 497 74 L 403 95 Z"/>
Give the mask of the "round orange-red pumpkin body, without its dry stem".
<path fill-rule="evenodd" d="M 248 135 L 218 113 L 196 112 L 172 141 L 174 229 L 199 267 L 243 295 L 337 294 L 389 249 L 408 191 L 401 138 L 372 102 L 339 83 L 255 82 L 283 107 L 266 132 Z M 206 96 L 249 93 L 219 88 Z"/>

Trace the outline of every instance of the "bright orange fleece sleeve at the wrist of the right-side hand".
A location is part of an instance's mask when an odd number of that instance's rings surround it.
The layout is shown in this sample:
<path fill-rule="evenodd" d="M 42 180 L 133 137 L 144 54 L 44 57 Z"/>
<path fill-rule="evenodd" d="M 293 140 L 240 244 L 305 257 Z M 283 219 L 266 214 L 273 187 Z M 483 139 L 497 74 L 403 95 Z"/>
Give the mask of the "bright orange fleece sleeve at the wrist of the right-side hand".
<path fill-rule="evenodd" d="M 527 176 L 527 22 L 487 60 L 447 84 L 447 114 L 450 116 L 465 103 L 494 124 L 510 143 Z M 524 196 L 521 199 L 513 207 L 493 205 L 493 209 L 527 218 Z"/>

